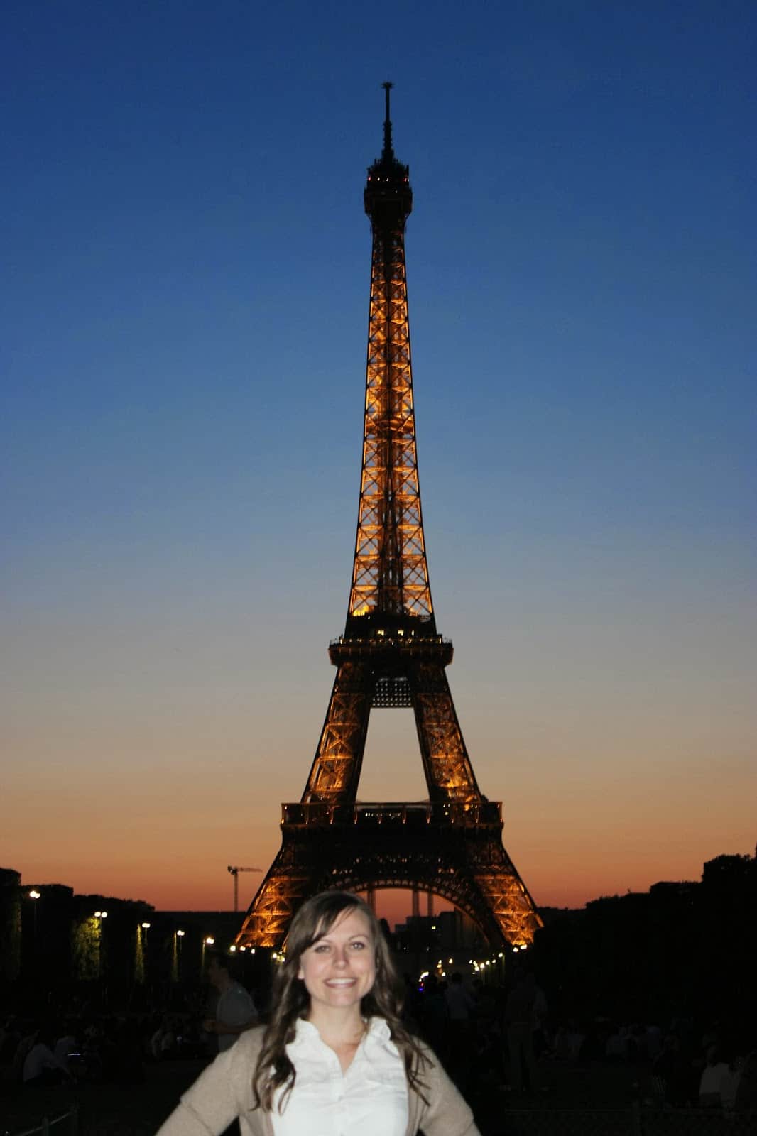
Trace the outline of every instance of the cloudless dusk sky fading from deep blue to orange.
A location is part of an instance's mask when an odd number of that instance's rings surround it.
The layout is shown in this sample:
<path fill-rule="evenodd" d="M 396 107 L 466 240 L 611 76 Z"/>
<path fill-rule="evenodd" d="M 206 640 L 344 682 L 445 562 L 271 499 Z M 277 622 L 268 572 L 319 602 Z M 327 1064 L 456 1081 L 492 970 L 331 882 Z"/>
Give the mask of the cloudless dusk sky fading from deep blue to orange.
<path fill-rule="evenodd" d="M 383 80 L 432 594 L 505 846 L 557 905 L 751 853 L 755 5 L 2 24 L 0 864 L 208 910 L 278 850 L 347 615 Z M 425 796 L 410 711 L 360 795 Z"/>

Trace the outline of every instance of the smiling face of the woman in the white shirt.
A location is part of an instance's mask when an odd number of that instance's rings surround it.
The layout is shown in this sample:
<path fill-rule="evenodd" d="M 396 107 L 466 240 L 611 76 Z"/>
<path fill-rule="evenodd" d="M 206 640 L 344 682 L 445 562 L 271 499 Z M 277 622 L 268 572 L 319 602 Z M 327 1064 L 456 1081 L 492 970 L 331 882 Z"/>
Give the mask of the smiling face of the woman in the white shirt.
<path fill-rule="evenodd" d="M 376 980 L 376 945 L 371 924 L 346 908 L 325 934 L 300 955 L 298 978 L 310 995 L 310 1013 L 357 1005 Z"/>

